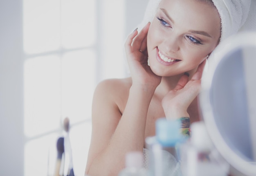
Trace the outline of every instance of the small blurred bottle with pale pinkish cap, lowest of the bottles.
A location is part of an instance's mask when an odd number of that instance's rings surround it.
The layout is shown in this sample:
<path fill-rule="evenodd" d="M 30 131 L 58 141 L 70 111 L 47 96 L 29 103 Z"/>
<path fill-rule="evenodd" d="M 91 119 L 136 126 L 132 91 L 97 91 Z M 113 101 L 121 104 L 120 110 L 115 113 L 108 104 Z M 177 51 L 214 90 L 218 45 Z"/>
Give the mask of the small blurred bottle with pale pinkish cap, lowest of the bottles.
<path fill-rule="evenodd" d="M 118 176 L 147 176 L 147 171 L 143 167 L 142 152 L 128 152 L 126 154 L 126 167 L 119 172 Z"/>

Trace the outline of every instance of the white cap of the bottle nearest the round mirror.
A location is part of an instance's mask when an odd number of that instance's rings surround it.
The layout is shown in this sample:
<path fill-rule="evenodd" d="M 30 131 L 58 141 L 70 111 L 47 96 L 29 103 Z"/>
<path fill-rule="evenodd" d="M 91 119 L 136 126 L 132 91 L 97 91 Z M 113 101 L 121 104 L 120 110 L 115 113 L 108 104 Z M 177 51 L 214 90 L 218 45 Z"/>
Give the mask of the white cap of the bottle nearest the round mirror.
<path fill-rule="evenodd" d="M 191 124 L 191 143 L 202 152 L 210 151 L 213 143 L 203 121 Z"/>

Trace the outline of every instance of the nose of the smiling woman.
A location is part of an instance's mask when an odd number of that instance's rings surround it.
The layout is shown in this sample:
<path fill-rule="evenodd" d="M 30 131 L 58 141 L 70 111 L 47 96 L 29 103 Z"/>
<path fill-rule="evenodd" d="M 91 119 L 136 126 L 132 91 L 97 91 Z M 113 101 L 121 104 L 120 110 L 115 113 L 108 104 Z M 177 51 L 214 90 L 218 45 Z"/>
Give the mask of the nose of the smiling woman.
<path fill-rule="evenodd" d="M 163 42 L 163 47 L 165 48 L 165 51 L 176 53 L 177 51 L 180 50 L 179 37 L 174 35 L 165 37 Z"/>

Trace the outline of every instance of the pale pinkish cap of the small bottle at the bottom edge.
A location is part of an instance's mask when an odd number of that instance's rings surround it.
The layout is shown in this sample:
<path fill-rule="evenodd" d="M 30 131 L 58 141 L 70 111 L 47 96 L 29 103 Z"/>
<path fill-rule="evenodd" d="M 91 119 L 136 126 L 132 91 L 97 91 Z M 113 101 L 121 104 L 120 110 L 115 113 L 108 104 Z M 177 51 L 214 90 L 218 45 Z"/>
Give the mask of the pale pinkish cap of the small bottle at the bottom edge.
<path fill-rule="evenodd" d="M 128 152 L 126 154 L 126 167 L 143 167 L 143 154 L 139 151 Z"/>

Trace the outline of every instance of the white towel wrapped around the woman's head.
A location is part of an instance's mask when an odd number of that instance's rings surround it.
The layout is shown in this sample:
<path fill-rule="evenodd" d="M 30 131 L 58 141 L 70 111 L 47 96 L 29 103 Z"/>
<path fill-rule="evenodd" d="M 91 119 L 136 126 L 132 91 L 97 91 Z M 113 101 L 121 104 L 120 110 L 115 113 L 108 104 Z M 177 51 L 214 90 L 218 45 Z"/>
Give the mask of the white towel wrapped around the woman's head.
<path fill-rule="evenodd" d="M 221 18 L 221 41 L 238 31 L 250 29 L 256 30 L 256 0 L 212 1 Z M 160 2 L 161 0 L 148 1 L 144 19 L 139 24 L 138 30 L 141 30 L 147 22 L 151 22 L 153 20 Z"/>

